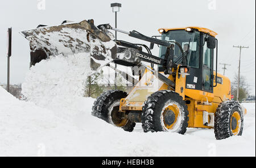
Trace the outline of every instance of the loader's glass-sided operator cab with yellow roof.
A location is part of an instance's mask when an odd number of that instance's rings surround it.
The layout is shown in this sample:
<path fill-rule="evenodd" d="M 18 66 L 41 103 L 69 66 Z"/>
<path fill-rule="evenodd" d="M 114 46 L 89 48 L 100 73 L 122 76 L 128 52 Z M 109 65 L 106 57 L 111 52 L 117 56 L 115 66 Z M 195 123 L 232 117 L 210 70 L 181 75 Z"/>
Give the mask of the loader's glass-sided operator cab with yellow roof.
<path fill-rule="evenodd" d="M 206 28 L 189 27 L 175 29 L 159 29 L 162 31 L 162 40 L 179 42 L 184 51 L 188 74 L 185 87 L 205 92 L 213 92 L 213 60 L 215 38 L 217 33 Z M 160 46 L 159 57 L 164 58 L 167 48 Z M 180 48 L 174 44 L 173 61 L 182 64 L 182 53 Z M 160 72 L 163 67 L 159 66 Z"/>

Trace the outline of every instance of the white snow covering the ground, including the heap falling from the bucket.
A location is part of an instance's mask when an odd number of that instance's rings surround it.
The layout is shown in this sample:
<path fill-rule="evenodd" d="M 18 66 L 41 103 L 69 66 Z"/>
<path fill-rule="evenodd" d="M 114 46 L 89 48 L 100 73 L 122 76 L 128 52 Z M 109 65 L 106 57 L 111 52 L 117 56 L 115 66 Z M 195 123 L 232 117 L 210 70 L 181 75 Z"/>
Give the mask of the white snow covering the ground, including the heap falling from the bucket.
<path fill-rule="evenodd" d="M 243 135 L 224 140 L 196 128 L 144 133 L 137 124 L 125 132 L 93 117 L 94 99 L 82 97 L 86 60 L 73 55 L 36 64 L 23 84 L 28 101 L 0 87 L 0 156 L 255 156 L 255 103 L 243 104 Z"/>

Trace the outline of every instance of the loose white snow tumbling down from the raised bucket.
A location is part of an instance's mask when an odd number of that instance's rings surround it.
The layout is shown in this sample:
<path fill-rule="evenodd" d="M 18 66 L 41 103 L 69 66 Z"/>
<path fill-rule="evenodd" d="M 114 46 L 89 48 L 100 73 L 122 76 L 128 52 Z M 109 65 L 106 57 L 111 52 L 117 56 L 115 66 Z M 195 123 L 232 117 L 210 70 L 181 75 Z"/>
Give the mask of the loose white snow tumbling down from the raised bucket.
<path fill-rule="evenodd" d="M 88 53 L 79 53 L 68 57 L 58 55 L 36 63 L 22 84 L 22 94 L 28 101 L 68 119 L 82 109 L 84 82 L 92 72 L 89 60 Z"/>

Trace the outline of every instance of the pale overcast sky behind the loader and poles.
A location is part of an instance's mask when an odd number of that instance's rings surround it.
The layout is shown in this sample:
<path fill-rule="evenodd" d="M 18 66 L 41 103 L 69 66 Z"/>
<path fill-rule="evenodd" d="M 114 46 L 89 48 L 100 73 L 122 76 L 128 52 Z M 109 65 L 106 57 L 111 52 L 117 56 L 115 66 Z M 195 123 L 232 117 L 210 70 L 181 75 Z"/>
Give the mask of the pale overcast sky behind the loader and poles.
<path fill-rule="evenodd" d="M 249 46 L 242 50 L 241 74 L 255 94 L 255 0 L 181 0 L 181 1 L 109 1 L 109 0 L 9 0 L 0 2 L 0 83 L 7 80 L 6 37 L 7 28 L 13 27 L 13 54 L 11 56 L 10 82 L 24 81 L 29 70 L 30 50 L 28 41 L 18 32 L 35 28 L 39 24 L 56 25 L 63 20 L 81 21 L 94 19 L 94 23 L 114 26 L 110 3 L 122 3 L 118 12 L 119 29 L 133 29 L 152 36 L 159 35 L 158 28 L 200 26 L 212 29 L 218 35 L 218 63 L 228 63 L 225 76 L 233 80 L 238 72 L 239 49 L 233 45 Z M 118 39 L 138 42 L 121 35 Z M 144 42 L 148 44 L 147 42 Z M 158 48 L 153 51 L 158 55 Z M 219 73 L 223 73 L 218 65 Z"/>

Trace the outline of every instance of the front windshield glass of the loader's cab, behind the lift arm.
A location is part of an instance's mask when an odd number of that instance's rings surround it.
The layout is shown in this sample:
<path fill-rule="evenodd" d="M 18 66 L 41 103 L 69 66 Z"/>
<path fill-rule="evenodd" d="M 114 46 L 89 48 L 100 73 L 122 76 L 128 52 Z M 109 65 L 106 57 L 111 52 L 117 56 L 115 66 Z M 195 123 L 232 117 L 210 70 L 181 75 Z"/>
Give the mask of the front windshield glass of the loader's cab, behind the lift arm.
<path fill-rule="evenodd" d="M 185 30 L 175 30 L 163 33 L 162 40 L 179 42 L 182 46 L 187 66 L 199 68 L 199 49 L 200 49 L 200 33 L 197 31 L 187 32 Z M 166 46 L 160 46 L 159 57 L 164 58 L 166 54 Z M 182 53 L 179 46 L 174 44 L 174 63 L 181 64 Z"/>

